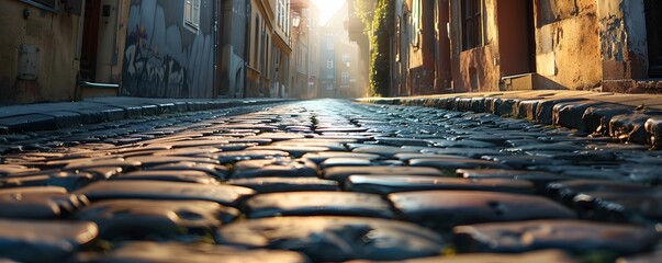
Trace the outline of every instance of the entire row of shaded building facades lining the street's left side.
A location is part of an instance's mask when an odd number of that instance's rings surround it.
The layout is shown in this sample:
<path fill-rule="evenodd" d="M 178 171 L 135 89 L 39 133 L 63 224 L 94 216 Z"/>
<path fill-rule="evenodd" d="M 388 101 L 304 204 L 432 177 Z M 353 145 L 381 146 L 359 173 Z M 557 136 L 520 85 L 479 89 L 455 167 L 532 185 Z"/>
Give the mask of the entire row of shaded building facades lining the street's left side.
<path fill-rule="evenodd" d="M 0 41 L 8 61 L 0 66 L 0 104 L 290 92 L 290 0 L 2 0 L 0 7 L 0 28 L 15 36 Z M 311 48 L 310 39 L 300 44 Z M 310 98 L 307 75 L 315 70 L 303 71 L 300 93 Z"/>

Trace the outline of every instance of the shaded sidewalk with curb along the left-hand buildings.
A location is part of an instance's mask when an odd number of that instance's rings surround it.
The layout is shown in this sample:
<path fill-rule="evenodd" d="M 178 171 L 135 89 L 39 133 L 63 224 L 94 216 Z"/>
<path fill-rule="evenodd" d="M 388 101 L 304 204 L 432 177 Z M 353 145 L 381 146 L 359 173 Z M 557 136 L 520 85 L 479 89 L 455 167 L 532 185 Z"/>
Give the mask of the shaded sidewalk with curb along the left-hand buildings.
<path fill-rule="evenodd" d="M 53 130 L 81 124 L 182 113 L 261 105 L 285 99 L 150 99 L 96 98 L 81 102 L 56 102 L 0 106 L 0 134 Z"/>

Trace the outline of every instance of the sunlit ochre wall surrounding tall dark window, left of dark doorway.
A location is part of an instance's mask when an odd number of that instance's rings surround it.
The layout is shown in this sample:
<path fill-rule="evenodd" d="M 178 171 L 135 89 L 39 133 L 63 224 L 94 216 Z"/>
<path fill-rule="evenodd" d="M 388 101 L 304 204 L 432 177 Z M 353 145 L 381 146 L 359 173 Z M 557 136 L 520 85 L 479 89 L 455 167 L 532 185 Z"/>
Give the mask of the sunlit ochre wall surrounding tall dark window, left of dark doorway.
<path fill-rule="evenodd" d="M 485 0 L 483 5 L 483 43 L 484 46 L 461 50 L 461 4 L 459 0 L 451 3 L 451 38 L 452 79 L 455 92 L 495 91 L 498 90 L 498 30 L 496 23 L 496 1 Z M 496 58 L 496 62 L 495 62 Z"/>

